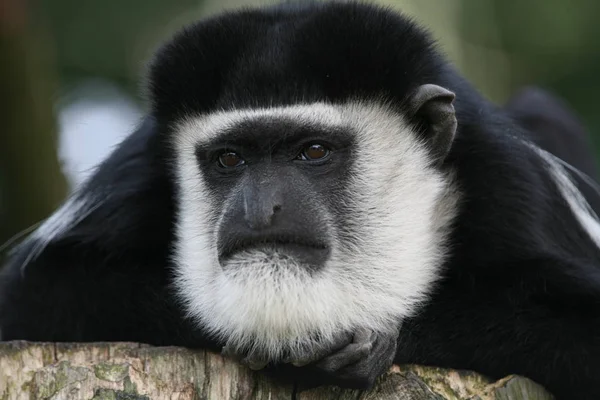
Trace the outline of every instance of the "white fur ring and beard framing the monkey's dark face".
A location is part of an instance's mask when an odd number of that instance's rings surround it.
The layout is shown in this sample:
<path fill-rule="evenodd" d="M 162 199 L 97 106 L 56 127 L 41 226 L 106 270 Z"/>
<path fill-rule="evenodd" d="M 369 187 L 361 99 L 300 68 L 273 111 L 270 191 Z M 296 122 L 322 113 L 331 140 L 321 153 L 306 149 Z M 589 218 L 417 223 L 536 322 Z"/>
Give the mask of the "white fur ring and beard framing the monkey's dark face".
<path fill-rule="evenodd" d="M 293 119 L 357 132 L 350 193 L 339 199 L 352 243 L 332 232 L 332 256 L 312 275 L 272 251 L 218 262 L 219 226 L 195 147 L 249 119 Z M 350 102 L 235 110 L 189 117 L 176 126 L 176 287 L 199 325 L 238 351 L 276 361 L 327 345 L 342 331 L 385 332 L 413 314 L 440 275 L 458 193 L 451 177 L 431 166 L 425 146 L 403 117 L 385 105 Z M 235 190 L 235 189 L 234 189 Z M 213 219 L 214 220 L 214 219 Z M 354 228 L 352 228 L 354 227 Z"/>

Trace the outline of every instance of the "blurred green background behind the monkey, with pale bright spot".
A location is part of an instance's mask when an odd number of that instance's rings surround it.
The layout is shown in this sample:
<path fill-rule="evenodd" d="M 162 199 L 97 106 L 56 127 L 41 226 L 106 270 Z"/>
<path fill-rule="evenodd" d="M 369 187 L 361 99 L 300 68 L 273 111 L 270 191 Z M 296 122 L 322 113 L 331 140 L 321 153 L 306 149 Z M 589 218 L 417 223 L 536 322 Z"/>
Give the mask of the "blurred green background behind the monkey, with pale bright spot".
<path fill-rule="evenodd" d="M 429 27 L 492 101 L 565 99 L 600 149 L 600 2 L 379 0 Z M 243 0 L 0 0 L 0 244 L 45 218 L 139 121 L 153 49 Z"/>

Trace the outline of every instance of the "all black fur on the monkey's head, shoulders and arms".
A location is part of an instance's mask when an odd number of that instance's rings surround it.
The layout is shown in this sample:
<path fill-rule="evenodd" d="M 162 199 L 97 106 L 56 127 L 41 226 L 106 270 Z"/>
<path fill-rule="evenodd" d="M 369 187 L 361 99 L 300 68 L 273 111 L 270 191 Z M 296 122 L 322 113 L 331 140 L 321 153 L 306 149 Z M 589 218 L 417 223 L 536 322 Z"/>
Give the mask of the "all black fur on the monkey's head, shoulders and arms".
<path fill-rule="evenodd" d="M 170 291 L 170 121 L 190 110 L 381 93 L 403 110 L 416 87 L 434 83 L 456 93 L 458 133 L 443 167 L 457 169 L 465 199 L 444 280 L 404 323 L 395 361 L 520 374 L 559 399 L 600 398 L 600 250 L 539 157 L 516 139 L 528 133 L 420 28 L 365 4 L 243 10 L 178 34 L 158 52 L 149 82 L 150 116 L 80 192 L 103 204 L 23 270 L 33 242 L 3 269 L 4 340 L 218 350 Z"/>

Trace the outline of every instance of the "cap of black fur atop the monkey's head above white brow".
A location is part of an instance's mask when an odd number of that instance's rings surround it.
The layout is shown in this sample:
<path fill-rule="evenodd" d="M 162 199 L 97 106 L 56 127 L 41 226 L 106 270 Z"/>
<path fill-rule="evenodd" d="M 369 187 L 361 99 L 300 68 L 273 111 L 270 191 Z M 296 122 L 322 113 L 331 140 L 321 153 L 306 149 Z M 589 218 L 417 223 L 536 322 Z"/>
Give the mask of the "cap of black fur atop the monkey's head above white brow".
<path fill-rule="evenodd" d="M 445 61 L 410 19 L 361 2 L 273 6 L 193 24 L 149 71 L 159 119 L 214 109 L 385 97 L 440 82 Z M 446 85 L 448 87 L 448 85 Z"/>

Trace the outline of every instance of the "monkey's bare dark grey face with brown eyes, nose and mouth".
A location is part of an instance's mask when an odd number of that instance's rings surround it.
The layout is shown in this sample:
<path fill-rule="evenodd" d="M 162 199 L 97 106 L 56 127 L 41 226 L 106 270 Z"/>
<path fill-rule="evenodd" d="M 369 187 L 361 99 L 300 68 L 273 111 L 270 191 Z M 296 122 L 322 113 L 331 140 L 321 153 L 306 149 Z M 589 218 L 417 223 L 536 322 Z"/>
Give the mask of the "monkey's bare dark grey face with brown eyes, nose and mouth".
<path fill-rule="evenodd" d="M 213 208 L 214 237 L 226 275 L 325 267 L 337 201 L 347 197 L 352 140 L 346 131 L 290 118 L 250 118 L 197 147 L 212 201 L 221 205 Z"/>

